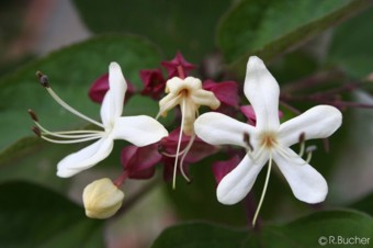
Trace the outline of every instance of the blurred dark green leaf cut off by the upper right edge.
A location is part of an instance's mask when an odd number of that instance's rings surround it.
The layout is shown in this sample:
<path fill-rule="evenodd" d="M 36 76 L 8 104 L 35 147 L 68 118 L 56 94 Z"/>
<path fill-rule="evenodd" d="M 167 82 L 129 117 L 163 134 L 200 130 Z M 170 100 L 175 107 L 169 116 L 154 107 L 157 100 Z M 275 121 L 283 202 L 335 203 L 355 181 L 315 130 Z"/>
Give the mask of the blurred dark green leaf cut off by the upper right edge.
<path fill-rule="evenodd" d="M 330 44 L 328 63 L 337 65 L 355 78 L 373 71 L 373 9 L 364 11 L 338 26 Z"/>

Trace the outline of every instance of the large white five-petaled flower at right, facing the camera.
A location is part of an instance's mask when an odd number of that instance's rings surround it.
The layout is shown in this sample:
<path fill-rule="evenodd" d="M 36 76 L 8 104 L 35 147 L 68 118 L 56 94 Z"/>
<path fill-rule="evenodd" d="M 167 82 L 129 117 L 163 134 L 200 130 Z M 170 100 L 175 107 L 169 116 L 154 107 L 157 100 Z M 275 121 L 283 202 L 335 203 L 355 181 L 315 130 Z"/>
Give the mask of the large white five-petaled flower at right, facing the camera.
<path fill-rule="evenodd" d="M 326 180 L 290 146 L 299 139 L 304 143 L 306 139 L 330 136 L 341 125 L 340 111 L 330 105 L 318 105 L 280 125 L 279 84 L 263 61 L 255 56 L 247 64 L 244 91 L 255 110 L 256 126 L 221 113 L 205 113 L 194 123 L 196 135 L 206 143 L 237 145 L 248 150 L 241 162 L 218 184 L 218 201 L 235 204 L 242 200 L 269 161 L 265 192 L 272 160 L 287 180 L 295 198 L 307 203 L 324 201 L 328 192 Z M 261 202 L 262 199 L 258 208 Z"/>

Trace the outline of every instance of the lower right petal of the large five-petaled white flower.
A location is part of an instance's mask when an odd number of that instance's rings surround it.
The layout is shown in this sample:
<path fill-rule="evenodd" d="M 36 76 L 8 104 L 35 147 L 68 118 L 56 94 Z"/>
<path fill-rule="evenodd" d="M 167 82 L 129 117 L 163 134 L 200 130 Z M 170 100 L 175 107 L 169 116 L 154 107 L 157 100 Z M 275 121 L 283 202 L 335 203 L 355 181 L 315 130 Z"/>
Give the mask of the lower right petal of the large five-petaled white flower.
<path fill-rule="evenodd" d="M 325 200 L 328 184 L 324 177 L 292 149 L 286 147 L 283 153 L 273 153 L 273 160 L 286 178 L 295 198 L 310 204 Z"/>

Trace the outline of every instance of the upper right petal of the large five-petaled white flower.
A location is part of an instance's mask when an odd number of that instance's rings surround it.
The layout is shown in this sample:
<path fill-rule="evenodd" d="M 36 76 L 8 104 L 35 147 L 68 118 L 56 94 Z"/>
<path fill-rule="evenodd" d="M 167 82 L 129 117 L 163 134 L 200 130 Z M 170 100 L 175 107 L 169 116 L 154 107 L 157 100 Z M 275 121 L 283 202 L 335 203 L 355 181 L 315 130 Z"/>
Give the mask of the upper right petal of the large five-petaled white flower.
<path fill-rule="evenodd" d="M 342 114 L 330 105 L 317 105 L 281 124 L 279 140 L 284 146 L 298 143 L 299 135 L 306 139 L 326 138 L 342 124 Z"/>

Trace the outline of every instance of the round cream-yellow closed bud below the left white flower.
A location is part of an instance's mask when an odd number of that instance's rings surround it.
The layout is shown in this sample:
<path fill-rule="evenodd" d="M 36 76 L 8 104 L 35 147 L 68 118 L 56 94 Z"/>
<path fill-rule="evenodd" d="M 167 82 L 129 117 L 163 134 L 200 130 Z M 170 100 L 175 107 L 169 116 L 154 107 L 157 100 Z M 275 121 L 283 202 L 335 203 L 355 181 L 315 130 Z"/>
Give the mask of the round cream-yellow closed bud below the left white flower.
<path fill-rule="evenodd" d="M 122 206 L 124 193 L 109 179 L 88 184 L 83 191 L 86 215 L 91 218 L 109 218 Z"/>

